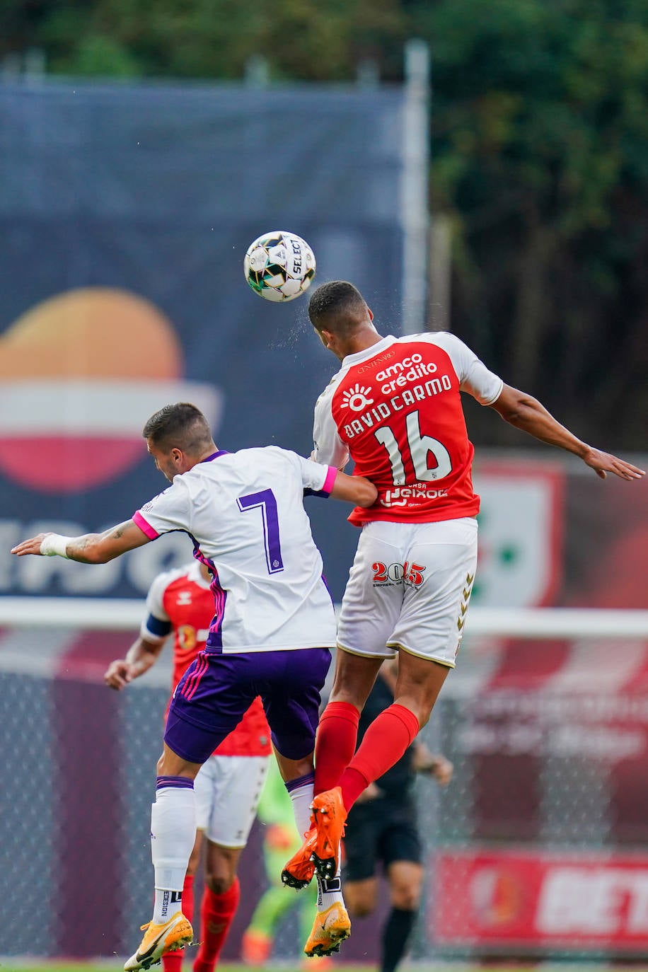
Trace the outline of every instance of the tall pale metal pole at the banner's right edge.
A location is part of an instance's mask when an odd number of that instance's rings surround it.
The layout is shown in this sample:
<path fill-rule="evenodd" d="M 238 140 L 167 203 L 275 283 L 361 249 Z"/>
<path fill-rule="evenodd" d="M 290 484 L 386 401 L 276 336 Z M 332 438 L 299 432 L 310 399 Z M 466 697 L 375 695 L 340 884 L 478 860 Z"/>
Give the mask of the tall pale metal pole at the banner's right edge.
<path fill-rule="evenodd" d="M 426 279 L 429 218 L 427 171 L 429 162 L 429 48 L 425 41 L 405 45 L 405 106 L 403 111 L 403 228 L 402 330 L 426 328 Z"/>

